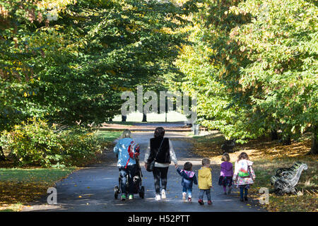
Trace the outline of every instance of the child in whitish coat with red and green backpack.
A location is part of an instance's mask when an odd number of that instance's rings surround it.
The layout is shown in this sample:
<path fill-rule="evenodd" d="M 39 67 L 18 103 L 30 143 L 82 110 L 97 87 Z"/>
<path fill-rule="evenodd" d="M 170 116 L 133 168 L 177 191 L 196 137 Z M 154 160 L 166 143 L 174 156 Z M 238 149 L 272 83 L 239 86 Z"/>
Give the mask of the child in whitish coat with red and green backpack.
<path fill-rule="evenodd" d="M 247 191 L 254 184 L 255 173 L 253 162 L 249 161 L 247 153 L 240 153 L 235 162 L 233 181 L 240 188 L 240 201 L 247 201 Z"/>

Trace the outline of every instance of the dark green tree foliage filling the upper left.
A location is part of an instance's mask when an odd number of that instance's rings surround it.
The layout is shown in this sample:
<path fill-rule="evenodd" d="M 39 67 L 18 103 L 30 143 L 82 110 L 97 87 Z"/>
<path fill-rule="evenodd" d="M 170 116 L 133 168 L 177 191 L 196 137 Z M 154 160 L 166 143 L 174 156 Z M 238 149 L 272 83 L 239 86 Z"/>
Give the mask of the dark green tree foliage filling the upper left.
<path fill-rule="evenodd" d="M 153 0 L 0 7 L 0 131 L 29 117 L 87 126 L 118 114 L 123 90 L 156 87 L 171 70 L 182 42 L 173 30 L 187 23 L 179 14 L 189 10 Z"/>

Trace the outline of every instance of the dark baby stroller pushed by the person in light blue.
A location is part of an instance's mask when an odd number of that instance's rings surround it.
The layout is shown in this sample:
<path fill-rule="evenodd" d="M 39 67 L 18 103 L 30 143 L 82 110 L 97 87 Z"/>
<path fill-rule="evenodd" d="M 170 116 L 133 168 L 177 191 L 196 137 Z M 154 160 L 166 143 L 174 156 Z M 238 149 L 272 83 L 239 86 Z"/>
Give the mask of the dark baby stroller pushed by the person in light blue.
<path fill-rule="evenodd" d="M 137 169 L 136 169 L 136 174 L 134 175 L 134 179 L 133 179 L 133 183 L 134 183 L 134 194 L 139 194 L 140 198 L 144 198 L 145 197 L 145 187 L 142 185 L 142 178 L 143 178 L 143 174 L 141 172 L 141 167 L 139 165 L 139 158 L 136 157 L 136 165 L 137 165 Z M 129 187 L 129 174 L 126 175 L 127 179 L 126 179 L 126 191 L 128 191 L 128 187 Z M 120 177 L 119 174 L 119 185 L 114 187 L 114 198 L 118 198 L 118 195 L 122 193 L 122 178 Z"/>

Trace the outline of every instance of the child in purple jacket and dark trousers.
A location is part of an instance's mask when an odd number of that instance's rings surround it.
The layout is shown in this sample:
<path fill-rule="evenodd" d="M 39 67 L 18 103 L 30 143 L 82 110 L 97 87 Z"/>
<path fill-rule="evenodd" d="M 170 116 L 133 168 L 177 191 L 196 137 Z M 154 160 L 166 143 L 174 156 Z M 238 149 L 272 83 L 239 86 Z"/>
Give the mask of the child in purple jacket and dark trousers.
<path fill-rule="evenodd" d="M 224 153 L 221 159 L 223 162 L 220 165 L 220 179 L 218 179 L 218 185 L 223 186 L 224 194 L 230 194 L 232 191 L 232 177 L 233 177 L 233 165 L 230 162 L 230 155 Z M 228 186 L 228 192 L 226 191 Z"/>

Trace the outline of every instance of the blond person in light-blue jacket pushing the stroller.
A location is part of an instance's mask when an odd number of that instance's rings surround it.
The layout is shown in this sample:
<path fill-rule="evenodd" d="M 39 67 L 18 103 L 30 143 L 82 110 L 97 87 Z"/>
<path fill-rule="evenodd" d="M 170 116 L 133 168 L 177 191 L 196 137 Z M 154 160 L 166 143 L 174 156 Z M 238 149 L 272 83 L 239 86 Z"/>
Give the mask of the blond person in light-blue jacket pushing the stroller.
<path fill-rule="evenodd" d="M 117 167 L 119 168 L 119 174 L 122 179 L 122 201 L 126 199 L 126 194 L 129 194 L 129 199 L 134 198 L 134 176 L 136 174 L 137 165 L 136 157 L 139 156 L 139 145 L 133 140 L 131 131 L 125 129 L 122 133 L 122 137 L 114 146 L 114 153 L 118 156 Z M 129 191 L 126 191 L 126 175 L 128 177 Z"/>

